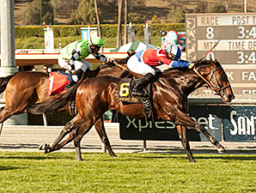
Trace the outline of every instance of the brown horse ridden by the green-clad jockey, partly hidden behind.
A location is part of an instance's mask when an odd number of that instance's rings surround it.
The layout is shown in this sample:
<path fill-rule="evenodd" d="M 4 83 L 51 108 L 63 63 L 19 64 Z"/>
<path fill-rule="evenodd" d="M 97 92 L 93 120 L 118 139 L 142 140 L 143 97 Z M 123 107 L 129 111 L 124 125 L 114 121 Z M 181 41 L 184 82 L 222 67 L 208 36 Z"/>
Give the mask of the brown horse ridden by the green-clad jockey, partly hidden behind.
<path fill-rule="evenodd" d="M 131 57 L 131 55 L 133 55 L 135 52 L 131 51 L 127 53 L 128 57 L 117 61 L 119 64 L 127 63 L 129 57 Z M 113 75 L 123 78 L 131 75 L 131 73 L 128 70 L 116 66 L 114 63 L 107 63 L 91 71 L 88 77 L 101 75 Z M 6 105 L 0 111 L 0 123 L 3 123 L 7 118 L 12 115 L 27 112 L 27 106 L 34 104 L 37 101 L 46 100 L 48 98 L 48 78 L 48 73 L 40 71 L 17 72 L 13 75 L 1 77 L 0 93 L 3 93 L 3 91 L 5 90 Z M 68 106 L 65 106 L 63 110 L 68 110 Z M 105 144 L 108 153 L 111 156 L 115 156 L 115 154 L 113 153 L 113 149 L 111 148 L 110 143 L 107 139 L 103 120 L 101 118 L 95 123 L 95 129 L 101 137 L 101 141 Z"/>

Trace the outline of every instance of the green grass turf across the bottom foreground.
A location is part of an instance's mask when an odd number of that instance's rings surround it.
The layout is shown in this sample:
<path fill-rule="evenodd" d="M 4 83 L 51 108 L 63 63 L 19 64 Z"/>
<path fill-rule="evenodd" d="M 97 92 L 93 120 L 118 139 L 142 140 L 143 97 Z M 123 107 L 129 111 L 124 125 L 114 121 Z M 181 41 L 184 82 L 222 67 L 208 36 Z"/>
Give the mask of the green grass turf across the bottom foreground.
<path fill-rule="evenodd" d="M 256 155 L 0 152 L 0 192 L 254 192 Z"/>

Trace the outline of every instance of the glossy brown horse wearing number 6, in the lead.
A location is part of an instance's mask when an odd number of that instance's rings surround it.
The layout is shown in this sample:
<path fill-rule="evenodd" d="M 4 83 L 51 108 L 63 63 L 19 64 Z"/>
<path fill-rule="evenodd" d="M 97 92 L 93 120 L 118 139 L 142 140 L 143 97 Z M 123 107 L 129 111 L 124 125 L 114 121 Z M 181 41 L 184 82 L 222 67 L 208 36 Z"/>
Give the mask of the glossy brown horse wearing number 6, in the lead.
<path fill-rule="evenodd" d="M 210 142 L 216 146 L 219 153 L 225 152 L 222 145 L 187 115 L 187 96 L 198 87 L 206 85 L 222 97 L 222 101 L 230 102 L 235 98 L 229 84 L 227 75 L 217 61 L 201 61 L 197 70 L 203 75 L 204 80 L 191 69 L 169 69 L 152 84 L 153 110 L 156 119 L 169 120 L 176 124 L 181 143 L 186 150 L 188 160 L 194 162 L 189 142 L 186 136 L 186 127 L 202 132 Z M 119 78 L 113 76 L 94 77 L 83 81 L 80 85 L 71 88 L 58 100 L 45 101 L 44 104 L 36 104 L 28 108 L 29 112 L 42 113 L 54 112 L 56 108 L 64 106 L 65 100 L 76 94 L 78 114 L 68 124 L 58 138 L 51 144 L 46 144 L 45 150 L 52 152 L 64 147 L 74 140 L 76 147 L 76 160 L 82 160 L 80 142 L 94 123 L 101 118 L 107 110 L 115 110 L 131 118 L 143 118 L 143 106 L 141 104 L 123 105 L 118 100 Z M 77 91 L 76 88 L 78 87 Z M 48 104 L 47 104 L 48 103 Z M 71 132 L 71 133 L 70 133 Z M 70 136 L 60 142 L 63 137 Z M 60 142 L 60 143 L 58 143 Z"/>

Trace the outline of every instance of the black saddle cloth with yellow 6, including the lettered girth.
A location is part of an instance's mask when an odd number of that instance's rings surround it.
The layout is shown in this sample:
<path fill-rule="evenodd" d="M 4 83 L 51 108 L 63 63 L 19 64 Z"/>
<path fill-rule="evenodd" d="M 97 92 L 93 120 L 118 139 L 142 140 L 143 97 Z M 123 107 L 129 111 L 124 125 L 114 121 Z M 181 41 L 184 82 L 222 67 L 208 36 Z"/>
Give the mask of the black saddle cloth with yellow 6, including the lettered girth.
<path fill-rule="evenodd" d="M 124 78 L 119 82 L 119 101 L 122 102 L 124 106 L 129 104 L 142 104 L 146 120 L 149 118 L 154 120 L 151 105 L 151 84 L 145 88 L 143 96 L 137 96 L 131 93 L 131 90 L 133 87 L 135 87 L 136 82 L 137 79 L 134 78 Z"/>

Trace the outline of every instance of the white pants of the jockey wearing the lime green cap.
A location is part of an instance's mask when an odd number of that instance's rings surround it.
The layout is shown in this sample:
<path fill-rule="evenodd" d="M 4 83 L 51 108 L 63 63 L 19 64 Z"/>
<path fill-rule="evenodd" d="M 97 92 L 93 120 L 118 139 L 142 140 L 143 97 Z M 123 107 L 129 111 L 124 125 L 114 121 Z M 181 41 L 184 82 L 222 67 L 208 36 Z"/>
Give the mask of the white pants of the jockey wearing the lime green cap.
<path fill-rule="evenodd" d="M 70 60 L 58 57 L 58 65 L 63 69 L 70 69 Z M 92 65 L 85 60 L 75 61 L 75 69 L 82 69 L 84 72 L 86 69 L 91 69 Z"/>

